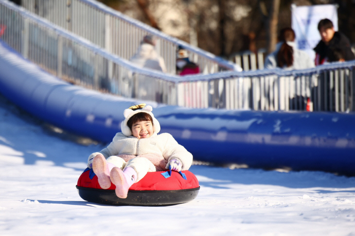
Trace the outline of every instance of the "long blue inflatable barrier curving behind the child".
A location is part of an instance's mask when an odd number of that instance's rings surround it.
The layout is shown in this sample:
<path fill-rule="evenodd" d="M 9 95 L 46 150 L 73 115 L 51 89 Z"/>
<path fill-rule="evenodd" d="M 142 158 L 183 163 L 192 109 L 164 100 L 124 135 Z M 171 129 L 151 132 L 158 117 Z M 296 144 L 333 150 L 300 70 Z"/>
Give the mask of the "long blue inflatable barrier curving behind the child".
<path fill-rule="evenodd" d="M 120 132 L 122 99 L 63 82 L 3 43 L 0 93 L 60 128 L 110 142 Z M 355 175 L 355 114 L 258 112 L 153 106 L 161 133 L 172 134 L 195 160 L 251 168 L 321 170 Z"/>

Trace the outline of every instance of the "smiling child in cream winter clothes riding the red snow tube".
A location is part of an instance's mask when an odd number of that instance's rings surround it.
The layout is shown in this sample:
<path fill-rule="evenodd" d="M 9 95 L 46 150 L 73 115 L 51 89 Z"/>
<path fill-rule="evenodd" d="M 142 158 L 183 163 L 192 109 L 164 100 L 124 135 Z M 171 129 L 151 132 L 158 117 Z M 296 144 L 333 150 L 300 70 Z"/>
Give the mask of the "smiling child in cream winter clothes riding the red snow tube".
<path fill-rule="evenodd" d="M 125 109 L 122 132 L 105 149 L 89 156 L 88 167 L 97 175 L 99 185 L 107 189 L 112 182 L 119 198 L 127 198 L 129 187 L 147 172 L 169 166 L 174 171 L 187 170 L 192 165 L 192 154 L 172 135 L 158 135 L 160 124 L 152 110 L 144 103 Z"/>

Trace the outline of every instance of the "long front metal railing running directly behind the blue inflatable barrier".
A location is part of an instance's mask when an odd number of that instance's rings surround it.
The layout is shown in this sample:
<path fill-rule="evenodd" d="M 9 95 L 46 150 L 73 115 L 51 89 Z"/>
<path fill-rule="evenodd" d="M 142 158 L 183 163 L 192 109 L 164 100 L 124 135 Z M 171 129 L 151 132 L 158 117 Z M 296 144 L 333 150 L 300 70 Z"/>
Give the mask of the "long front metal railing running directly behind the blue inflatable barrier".
<path fill-rule="evenodd" d="M 53 75 L 92 89 L 192 108 L 354 111 L 355 61 L 305 70 L 176 76 L 139 68 L 7 0 L 1 40 Z M 308 104 L 309 105 L 309 104 Z"/>

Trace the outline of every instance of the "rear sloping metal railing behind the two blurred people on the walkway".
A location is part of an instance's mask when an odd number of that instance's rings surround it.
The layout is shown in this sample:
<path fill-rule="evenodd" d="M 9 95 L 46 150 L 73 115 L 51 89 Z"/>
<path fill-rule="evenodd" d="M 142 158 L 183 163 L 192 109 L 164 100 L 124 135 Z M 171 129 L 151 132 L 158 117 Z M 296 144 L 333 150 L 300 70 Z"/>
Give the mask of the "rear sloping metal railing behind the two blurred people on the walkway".
<path fill-rule="evenodd" d="M 94 0 L 26 0 L 21 5 L 28 11 L 88 39 L 90 42 L 129 59 L 138 49 L 144 35 L 159 38 L 156 48 L 164 58 L 167 72 L 176 73 L 176 53 L 179 45 L 197 63 L 204 74 L 234 70 L 235 64 L 161 33 Z"/>

